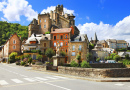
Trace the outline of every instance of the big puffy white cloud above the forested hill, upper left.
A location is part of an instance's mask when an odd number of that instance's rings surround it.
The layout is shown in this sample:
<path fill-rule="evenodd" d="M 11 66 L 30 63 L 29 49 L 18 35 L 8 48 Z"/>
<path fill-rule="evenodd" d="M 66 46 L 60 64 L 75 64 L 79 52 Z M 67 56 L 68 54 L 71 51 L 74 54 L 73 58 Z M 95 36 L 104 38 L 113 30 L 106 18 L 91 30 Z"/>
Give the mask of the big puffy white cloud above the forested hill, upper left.
<path fill-rule="evenodd" d="M 0 10 L 8 21 L 20 21 L 20 16 L 27 17 L 28 21 L 37 18 L 38 13 L 32 9 L 26 0 L 6 0 L 6 2 L 1 3 L 4 5 Z"/>

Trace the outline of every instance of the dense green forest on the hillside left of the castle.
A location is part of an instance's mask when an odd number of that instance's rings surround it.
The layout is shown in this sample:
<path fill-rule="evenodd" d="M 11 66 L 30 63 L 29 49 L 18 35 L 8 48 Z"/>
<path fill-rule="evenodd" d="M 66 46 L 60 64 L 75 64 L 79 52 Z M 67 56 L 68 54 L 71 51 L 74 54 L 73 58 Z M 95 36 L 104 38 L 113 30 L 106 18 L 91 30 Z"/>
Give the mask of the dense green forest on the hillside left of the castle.
<path fill-rule="evenodd" d="M 10 38 L 10 35 L 17 33 L 21 36 L 21 40 L 28 38 L 28 26 L 21 26 L 18 23 L 8 23 L 6 21 L 0 21 L 0 46 L 4 45 L 6 40 Z"/>

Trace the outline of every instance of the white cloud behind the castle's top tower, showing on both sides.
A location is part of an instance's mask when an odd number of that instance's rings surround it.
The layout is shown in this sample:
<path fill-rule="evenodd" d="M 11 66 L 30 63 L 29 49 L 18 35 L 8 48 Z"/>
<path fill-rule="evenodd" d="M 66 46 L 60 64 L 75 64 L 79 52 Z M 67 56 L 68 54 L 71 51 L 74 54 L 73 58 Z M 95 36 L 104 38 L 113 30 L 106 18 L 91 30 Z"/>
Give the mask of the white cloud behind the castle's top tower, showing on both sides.
<path fill-rule="evenodd" d="M 51 10 L 52 11 L 54 11 L 55 10 L 55 6 L 50 6 L 50 7 L 47 7 L 47 9 L 43 9 L 42 10 L 42 12 L 41 12 L 41 14 L 44 14 L 44 13 L 49 13 Z M 63 10 L 64 10 L 64 13 L 68 13 L 68 14 L 75 14 L 74 13 L 74 10 L 69 10 L 69 9 L 67 9 L 67 8 L 63 8 Z"/>

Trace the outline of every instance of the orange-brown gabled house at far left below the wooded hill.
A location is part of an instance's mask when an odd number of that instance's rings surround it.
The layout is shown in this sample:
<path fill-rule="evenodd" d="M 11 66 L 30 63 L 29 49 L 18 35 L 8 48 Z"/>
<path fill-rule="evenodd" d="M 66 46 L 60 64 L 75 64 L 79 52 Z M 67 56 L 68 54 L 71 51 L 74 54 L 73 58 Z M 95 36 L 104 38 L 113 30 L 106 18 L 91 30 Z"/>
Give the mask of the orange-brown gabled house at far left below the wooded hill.
<path fill-rule="evenodd" d="M 9 55 L 12 52 L 17 52 L 18 54 L 21 54 L 21 39 L 18 37 L 16 33 L 11 35 L 11 37 L 6 41 L 4 46 L 1 48 L 0 57 L 8 60 Z"/>

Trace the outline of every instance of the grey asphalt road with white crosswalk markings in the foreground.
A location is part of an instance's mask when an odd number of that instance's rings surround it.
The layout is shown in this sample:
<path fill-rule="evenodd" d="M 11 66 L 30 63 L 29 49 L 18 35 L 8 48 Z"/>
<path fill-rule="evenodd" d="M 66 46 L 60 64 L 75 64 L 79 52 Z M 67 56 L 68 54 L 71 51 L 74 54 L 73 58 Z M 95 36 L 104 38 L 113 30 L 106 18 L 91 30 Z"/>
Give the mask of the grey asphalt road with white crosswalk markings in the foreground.
<path fill-rule="evenodd" d="M 130 82 L 94 82 L 29 69 L 0 63 L 0 90 L 130 90 Z"/>

